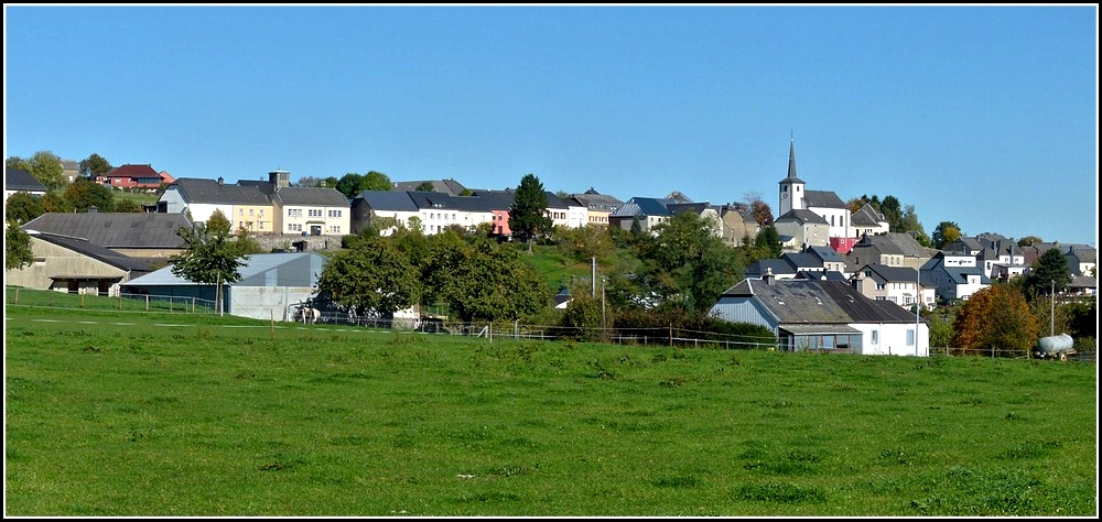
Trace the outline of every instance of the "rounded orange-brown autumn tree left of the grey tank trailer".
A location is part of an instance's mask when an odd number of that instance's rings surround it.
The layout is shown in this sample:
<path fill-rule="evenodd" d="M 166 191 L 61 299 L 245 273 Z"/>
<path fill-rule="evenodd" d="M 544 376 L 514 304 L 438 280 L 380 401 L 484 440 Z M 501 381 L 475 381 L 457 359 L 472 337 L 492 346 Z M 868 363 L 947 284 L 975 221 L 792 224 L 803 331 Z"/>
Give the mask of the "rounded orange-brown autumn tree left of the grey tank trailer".
<path fill-rule="evenodd" d="M 994 284 L 964 302 L 953 322 L 953 331 L 958 352 L 1018 357 L 1037 344 L 1040 326 L 1022 292 Z"/>

